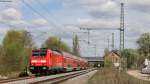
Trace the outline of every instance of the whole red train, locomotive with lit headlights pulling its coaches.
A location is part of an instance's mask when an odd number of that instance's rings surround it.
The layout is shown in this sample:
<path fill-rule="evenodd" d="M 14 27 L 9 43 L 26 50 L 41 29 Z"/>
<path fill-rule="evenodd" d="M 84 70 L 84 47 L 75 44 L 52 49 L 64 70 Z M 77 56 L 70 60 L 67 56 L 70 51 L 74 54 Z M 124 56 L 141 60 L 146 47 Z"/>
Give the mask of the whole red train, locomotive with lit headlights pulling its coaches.
<path fill-rule="evenodd" d="M 87 68 L 87 60 L 67 52 L 40 48 L 32 50 L 30 71 L 33 74 L 67 72 Z"/>

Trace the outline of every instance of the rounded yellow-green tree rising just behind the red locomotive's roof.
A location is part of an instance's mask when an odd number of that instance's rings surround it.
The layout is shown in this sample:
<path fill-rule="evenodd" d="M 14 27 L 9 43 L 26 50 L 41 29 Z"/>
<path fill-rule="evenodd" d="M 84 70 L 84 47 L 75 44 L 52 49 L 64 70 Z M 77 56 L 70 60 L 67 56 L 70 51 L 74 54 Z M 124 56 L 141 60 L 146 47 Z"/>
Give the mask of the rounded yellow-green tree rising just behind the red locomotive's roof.
<path fill-rule="evenodd" d="M 69 46 L 61 41 L 61 39 L 59 37 L 49 37 L 43 44 L 42 47 L 45 48 L 50 48 L 52 50 L 63 50 L 66 52 L 71 52 L 71 49 L 69 48 Z"/>

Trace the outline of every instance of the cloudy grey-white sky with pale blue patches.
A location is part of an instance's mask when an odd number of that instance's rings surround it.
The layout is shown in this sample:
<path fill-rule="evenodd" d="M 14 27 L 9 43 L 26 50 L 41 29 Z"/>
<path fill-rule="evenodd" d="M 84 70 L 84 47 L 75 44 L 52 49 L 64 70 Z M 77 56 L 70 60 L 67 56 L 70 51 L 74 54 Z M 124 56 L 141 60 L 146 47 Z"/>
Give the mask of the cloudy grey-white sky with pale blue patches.
<path fill-rule="evenodd" d="M 37 46 L 40 46 L 48 36 L 59 36 L 72 47 L 73 32 L 85 32 L 78 26 L 119 28 L 121 2 L 125 4 L 125 48 L 136 48 L 139 36 L 150 31 L 150 0 L 0 2 L 0 39 L 2 41 L 10 29 L 25 29 L 31 32 Z M 112 33 L 115 33 L 115 48 L 119 49 L 119 31 L 90 31 L 91 44 L 97 45 L 97 56 L 103 56 L 107 39 L 111 40 Z M 79 39 L 87 40 L 86 33 L 77 34 Z M 80 42 L 80 50 L 83 56 L 94 56 L 94 48 L 85 42 Z"/>

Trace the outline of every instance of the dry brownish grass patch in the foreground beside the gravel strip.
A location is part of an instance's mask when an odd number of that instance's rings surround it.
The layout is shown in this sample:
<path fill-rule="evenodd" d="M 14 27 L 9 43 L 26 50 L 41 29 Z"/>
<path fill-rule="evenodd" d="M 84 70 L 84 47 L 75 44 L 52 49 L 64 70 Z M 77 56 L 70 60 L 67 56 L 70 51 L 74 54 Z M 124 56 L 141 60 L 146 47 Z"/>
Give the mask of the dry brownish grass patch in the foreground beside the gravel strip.
<path fill-rule="evenodd" d="M 119 72 L 115 69 L 101 69 L 89 81 L 89 84 L 150 84 L 149 81 L 140 80 Z"/>

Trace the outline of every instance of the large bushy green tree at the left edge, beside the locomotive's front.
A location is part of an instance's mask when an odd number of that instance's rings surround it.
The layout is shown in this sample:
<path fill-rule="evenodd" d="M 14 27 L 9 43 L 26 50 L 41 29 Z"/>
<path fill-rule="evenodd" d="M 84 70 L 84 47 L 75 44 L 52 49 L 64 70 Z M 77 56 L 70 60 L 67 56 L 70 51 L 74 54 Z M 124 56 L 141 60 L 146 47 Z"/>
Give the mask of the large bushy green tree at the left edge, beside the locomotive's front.
<path fill-rule="evenodd" d="M 10 30 L 3 39 L 1 56 L 2 69 L 5 72 L 20 71 L 27 66 L 27 60 L 33 47 L 32 38 L 27 31 Z"/>

